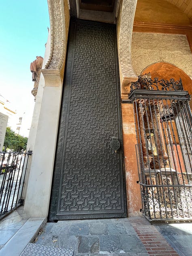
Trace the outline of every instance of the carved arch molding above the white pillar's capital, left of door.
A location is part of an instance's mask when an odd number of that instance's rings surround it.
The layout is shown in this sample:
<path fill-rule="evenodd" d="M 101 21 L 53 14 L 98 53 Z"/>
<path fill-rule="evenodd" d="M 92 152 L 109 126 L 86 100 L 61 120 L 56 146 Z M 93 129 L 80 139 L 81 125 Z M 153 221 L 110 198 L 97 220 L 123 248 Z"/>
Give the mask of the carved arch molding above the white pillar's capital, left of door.
<path fill-rule="evenodd" d="M 64 0 L 47 0 L 51 27 L 50 56 L 45 69 L 61 70 L 66 53 Z"/>

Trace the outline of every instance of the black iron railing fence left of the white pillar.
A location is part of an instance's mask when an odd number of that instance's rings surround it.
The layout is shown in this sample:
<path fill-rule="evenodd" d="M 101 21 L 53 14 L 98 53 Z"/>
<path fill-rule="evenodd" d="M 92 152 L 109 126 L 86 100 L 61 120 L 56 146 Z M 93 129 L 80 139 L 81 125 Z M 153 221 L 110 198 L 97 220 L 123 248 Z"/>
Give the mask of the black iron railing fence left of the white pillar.
<path fill-rule="evenodd" d="M 28 160 L 32 151 L 0 152 L 0 218 L 23 204 Z"/>

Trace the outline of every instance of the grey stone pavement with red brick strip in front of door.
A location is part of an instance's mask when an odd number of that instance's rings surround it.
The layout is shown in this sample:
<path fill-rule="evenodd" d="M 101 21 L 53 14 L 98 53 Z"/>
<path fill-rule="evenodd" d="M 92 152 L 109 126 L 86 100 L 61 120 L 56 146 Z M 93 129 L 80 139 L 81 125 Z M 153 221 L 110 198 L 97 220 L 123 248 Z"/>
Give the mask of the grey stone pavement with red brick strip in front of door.
<path fill-rule="evenodd" d="M 65 220 L 46 223 L 35 243 L 71 249 L 74 256 L 189 256 L 192 230 L 183 225 L 185 231 L 145 218 Z"/>

